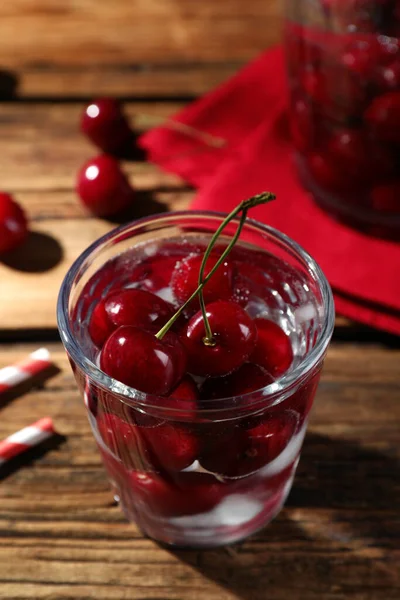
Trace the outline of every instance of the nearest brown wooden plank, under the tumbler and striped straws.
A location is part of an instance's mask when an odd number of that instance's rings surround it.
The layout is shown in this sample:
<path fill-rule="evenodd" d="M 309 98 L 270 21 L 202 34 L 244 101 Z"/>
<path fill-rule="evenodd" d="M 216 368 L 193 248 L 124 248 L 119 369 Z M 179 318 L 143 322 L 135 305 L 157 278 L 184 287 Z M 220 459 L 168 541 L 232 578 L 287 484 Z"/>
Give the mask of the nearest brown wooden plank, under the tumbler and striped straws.
<path fill-rule="evenodd" d="M 34 347 L 3 345 L 0 367 Z M 125 522 L 63 349 L 49 347 L 60 374 L 2 409 L 1 437 L 50 414 L 65 441 L 0 486 L 0 598 L 399 598 L 399 348 L 333 344 L 281 515 L 228 550 L 184 552 Z"/>

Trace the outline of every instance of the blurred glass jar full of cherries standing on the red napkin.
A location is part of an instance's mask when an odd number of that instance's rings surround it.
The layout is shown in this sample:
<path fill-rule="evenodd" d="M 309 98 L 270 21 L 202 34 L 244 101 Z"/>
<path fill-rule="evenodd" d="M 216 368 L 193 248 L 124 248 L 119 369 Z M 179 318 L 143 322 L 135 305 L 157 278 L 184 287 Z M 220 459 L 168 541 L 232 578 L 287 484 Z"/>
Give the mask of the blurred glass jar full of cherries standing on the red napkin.
<path fill-rule="evenodd" d="M 304 185 L 366 233 L 400 236 L 400 1 L 287 0 L 290 127 Z"/>

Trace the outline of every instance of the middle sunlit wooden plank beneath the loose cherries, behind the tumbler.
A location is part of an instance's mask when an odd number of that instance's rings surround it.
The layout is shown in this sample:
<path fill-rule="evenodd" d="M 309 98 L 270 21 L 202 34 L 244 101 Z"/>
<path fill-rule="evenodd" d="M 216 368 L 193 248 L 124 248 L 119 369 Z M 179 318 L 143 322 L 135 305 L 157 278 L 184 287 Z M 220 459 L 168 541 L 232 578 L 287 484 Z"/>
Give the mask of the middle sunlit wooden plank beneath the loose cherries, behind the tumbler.
<path fill-rule="evenodd" d="M 126 112 L 141 131 L 181 106 L 131 102 Z M 1 187 L 21 202 L 33 232 L 25 247 L 0 261 L 0 329 L 55 328 L 57 294 L 69 266 L 116 226 L 91 217 L 74 191 L 77 171 L 97 154 L 79 133 L 82 108 L 83 103 L 0 105 Z M 186 208 L 193 196 L 178 177 L 149 163 L 125 162 L 123 168 L 137 190 L 132 219 Z"/>

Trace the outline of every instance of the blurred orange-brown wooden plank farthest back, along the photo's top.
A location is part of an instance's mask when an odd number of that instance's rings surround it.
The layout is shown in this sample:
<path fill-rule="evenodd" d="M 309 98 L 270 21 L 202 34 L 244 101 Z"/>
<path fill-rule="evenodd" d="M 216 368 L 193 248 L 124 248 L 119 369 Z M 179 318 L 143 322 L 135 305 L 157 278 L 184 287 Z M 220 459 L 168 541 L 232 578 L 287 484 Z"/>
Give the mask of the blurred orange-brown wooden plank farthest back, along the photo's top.
<path fill-rule="evenodd" d="M 3 2 L 1 69 L 23 97 L 200 94 L 277 43 L 281 14 L 279 0 Z"/>

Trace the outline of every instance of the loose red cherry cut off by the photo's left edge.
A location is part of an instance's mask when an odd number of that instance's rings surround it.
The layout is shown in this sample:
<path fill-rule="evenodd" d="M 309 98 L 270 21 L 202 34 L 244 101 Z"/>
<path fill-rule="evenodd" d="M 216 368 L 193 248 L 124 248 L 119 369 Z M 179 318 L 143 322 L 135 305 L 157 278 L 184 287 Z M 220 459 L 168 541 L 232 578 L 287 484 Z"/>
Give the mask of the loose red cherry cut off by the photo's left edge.
<path fill-rule="evenodd" d="M 10 194 L 0 192 L 0 254 L 17 248 L 27 235 L 24 211 Z"/>

